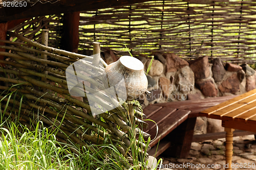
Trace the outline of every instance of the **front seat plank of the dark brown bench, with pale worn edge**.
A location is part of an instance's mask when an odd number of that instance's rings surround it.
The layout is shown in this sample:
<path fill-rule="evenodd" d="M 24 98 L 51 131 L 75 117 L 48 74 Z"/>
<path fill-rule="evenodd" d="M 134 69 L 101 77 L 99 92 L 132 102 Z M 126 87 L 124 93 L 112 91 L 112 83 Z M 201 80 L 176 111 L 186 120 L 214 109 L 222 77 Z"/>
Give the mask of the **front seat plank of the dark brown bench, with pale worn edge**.
<path fill-rule="evenodd" d="M 190 111 L 188 110 L 177 110 L 158 125 L 158 133 L 156 132 L 156 128 L 150 130 L 148 133 L 151 134 L 152 139 L 157 134 L 157 137 L 150 142 L 150 146 L 153 147 L 158 143 L 159 139 L 164 138 L 167 134 L 169 134 L 177 126 L 184 122 L 184 120 L 187 119 L 189 113 Z"/>

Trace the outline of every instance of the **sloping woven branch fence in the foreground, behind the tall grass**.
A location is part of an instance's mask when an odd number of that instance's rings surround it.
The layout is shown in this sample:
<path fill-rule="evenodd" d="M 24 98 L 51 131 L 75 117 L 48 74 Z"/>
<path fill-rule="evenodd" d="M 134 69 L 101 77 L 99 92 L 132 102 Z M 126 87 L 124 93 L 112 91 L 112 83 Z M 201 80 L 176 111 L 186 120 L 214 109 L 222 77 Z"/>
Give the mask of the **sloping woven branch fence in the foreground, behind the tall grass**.
<path fill-rule="evenodd" d="M 148 128 L 148 124 L 142 121 L 146 115 L 138 107 L 140 105 L 121 104 L 112 94 L 102 92 L 105 87 L 101 74 L 108 65 L 100 59 L 99 53 L 94 56 L 98 56 L 102 66 L 96 67 L 92 64 L 94 57 L 45 46 L 10 31 L 8 35 L 17 39 L 16 42 L 4 41 L 6 45 L 0 45 L 0 48 L 9 51 L 0 52 L 0 55 L 7 57 L 0 60 L 0 63 L 6 64 L 0 67 L 1 124 L 3 120 L 12 118 L 34 130 L 33 124 L 36 126 L 40 121 L 49 131 L 56 132 L 57 139 L 63 143 L 72 141 L 80 147 L 112 143 L 121 154 L 114 154 L 115 161 L 119 161 L 121 156 L 125 160 L 123 166 L 128 168 L 129 163 L 133 165 L 137 159 L 130 149 L 133 144 L 140 156 L 148 156 L 146 151 L 150 147 L 140 139 L 135 141 L 138 133 L 143 137 L 150 136 L 141 130 L 142 127 Z M 43 55 L 48 57 L 44 59 Z M 76 67 L 75 72 L 69 66 Z M 100 76 L 92 78 L 97 71 Z M 74 74 L 77 82 L 73 81 Z M 72 90 L 76 96 L 70 95 L 70 86 L 75 87 Z M 88 103 L 91 99 L 93 105 Z M 128 107 L 131 108 L 129 114 Z M 93 112 L 100 114 L 93 116 Z M 106 150 L 106 153 L 112 152 Z M 143 164 L 144 157 L 140 164 Z"/>

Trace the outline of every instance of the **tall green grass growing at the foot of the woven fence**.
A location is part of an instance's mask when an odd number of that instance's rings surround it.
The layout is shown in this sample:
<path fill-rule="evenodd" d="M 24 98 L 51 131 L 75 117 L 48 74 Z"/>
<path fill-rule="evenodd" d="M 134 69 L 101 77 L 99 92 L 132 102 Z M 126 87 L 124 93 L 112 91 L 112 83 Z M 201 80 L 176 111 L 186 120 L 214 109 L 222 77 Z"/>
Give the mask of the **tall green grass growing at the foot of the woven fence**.
<path fill-rule="evenodd" d="M 123 169 L 115 159 L 114 145 L 82 147 L 57 141 L 42 123 L 30 131 L 23 125 L 8 122 L 1 126 L 0 169 Z M 90 148 L 91 147 L 91 148 Z M 106 154 L 112 150 L 113 155 Z M 119 155 L 120 156 L 120 155 Z"/>

